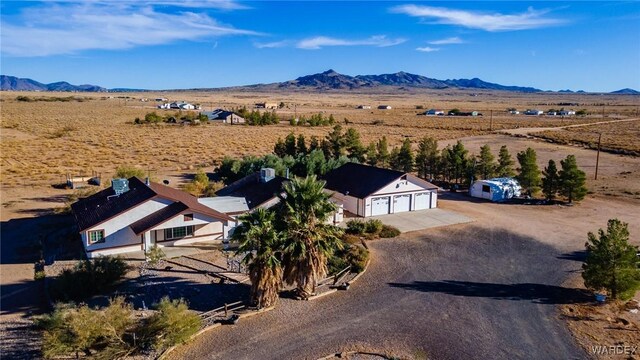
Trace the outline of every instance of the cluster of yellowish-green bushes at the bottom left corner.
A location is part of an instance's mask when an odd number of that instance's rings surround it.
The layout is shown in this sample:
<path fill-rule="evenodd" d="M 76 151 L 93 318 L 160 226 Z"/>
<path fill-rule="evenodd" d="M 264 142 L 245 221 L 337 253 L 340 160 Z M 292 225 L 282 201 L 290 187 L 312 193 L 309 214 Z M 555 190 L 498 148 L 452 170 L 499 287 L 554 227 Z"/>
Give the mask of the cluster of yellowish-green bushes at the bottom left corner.
<path fill-rule="evenodd" d="M 58 304 L 51 314 L 37 318 L 43 330 L 46 359 L 75 356 L 122 359 L 144 350 L 162 351 L 187 341 L 201 327 L 201 319 L 183 300 L 163 298 L 146 319 L 134 316 L 133 307 L 116 297 L 104 309 L 86 304 Z"/>

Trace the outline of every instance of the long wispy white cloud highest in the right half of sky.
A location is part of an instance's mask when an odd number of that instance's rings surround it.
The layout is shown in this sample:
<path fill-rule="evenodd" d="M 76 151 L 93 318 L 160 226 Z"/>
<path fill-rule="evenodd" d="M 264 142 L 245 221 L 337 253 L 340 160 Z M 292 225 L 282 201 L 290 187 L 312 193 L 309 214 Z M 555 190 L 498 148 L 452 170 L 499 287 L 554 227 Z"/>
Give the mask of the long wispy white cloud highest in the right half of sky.
<path fill-rule="evenodd" d="M 459 25 L 486 31 L 511 31 L 560 25 L 566 21 L 547 16 L 549 10 L 527 9 L 519 14 L 484 13 L 422 5 L 400 5 L 391 12 L 413 17 L 435 19 L 438 24 Z"/>

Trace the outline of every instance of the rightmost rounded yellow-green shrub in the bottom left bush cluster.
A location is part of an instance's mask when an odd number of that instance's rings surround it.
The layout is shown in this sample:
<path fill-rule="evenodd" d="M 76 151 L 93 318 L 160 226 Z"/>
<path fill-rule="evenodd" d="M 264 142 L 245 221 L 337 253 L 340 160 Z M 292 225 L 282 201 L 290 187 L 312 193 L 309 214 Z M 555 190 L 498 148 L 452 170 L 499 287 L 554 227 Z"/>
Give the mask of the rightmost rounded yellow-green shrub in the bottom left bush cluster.
<path fill-rule="evenodd" d="M 158 312 L 147 320 L 145 326 L 146 338 L 152 339 L 151 345 L 157 350 L 184 343 L 202 327 L 200 316 L 189 310 L 183 299 L 164 297 L 157 307 Z"/>

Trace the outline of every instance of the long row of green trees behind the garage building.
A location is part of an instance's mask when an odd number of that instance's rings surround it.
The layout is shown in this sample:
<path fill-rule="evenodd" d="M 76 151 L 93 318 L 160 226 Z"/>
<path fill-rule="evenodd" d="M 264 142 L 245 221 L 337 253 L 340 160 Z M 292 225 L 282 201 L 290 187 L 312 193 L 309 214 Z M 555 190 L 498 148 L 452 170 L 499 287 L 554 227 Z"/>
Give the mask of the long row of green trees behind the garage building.
<path fill-rule="evenodd" d="M 424 137 L 417 145 L 414 150 L 411 140 L 405 138 L 400 146 L 390 149 L 387 138 L 383 136 L 364 146 L 356 129 L 344 131 L 338 124 L 323 139 L 311 136 L 307 141 L 304 135 L 293 133 L 284 139 L 279 138 L 273 148 L 274 155 L 240 160 L 225 158 L 218 174 L 226 183 L 261 167 L 272 167 L 280 176 L 284 176 L 287 169 L 297 176 L 323 175 L 353 161 L 403 172 L 415 171 L 431 181 L 462 185 L 469 185 L 476 179 L 515 176 L 530 196 L 543 190 L 549 200 L 563 196 L 569 202 L 579 201 L 587 193 L 585 174 L 578 168 L 573 155 L 560 162 L 560 171 L 551 160 L 542 172 L 532 148 L 517 154 L 519 167 L 516 169 L 516 162 L 504 145 L 500 147 L 497 159 L 487 144 L 480 148 L 478 155 L 470 154 L 461 141 L 439 150 L 436 139 Z"/>

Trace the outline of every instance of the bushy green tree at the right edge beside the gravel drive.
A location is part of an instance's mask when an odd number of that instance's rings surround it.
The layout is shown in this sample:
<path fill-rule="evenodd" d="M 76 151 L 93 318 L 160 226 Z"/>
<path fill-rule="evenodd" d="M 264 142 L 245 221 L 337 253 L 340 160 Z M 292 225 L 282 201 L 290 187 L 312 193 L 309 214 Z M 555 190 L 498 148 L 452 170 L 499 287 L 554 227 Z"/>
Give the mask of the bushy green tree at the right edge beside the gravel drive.
<path fill-rule="evenodd" d="M 582 278 L 587 288 L 607 290 L 613 299 L 629 299 L 640 288 L 638 248 L 629 244 L 628 224 L 618 219 L 607 223 L 598 236 L 589 233 L 587 259 Z"/>

